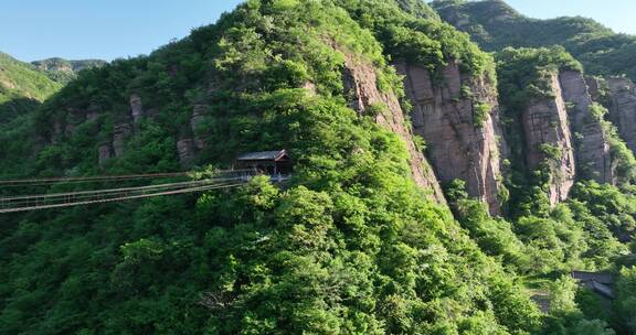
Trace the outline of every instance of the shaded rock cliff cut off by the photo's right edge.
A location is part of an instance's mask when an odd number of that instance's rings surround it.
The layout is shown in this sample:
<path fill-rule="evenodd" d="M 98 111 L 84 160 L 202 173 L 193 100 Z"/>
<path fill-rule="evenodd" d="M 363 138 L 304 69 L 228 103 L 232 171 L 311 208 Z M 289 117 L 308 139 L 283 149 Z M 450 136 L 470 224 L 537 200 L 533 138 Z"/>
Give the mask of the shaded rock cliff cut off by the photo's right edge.
<path fill-rule="evenodd" d="M 636 85 L 629 78 L 607 78 L 610 119 L 618 128 L 621 138 L 636 152 Z"/>

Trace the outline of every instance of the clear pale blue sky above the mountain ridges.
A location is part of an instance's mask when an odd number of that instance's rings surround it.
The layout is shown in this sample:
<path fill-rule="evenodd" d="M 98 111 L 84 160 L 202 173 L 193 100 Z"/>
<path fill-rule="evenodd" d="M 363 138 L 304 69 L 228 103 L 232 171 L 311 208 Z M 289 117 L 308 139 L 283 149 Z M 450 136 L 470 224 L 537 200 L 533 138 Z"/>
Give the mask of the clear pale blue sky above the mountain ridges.
<path fill-rule="evenodd" d="M 22 61 L 137 56 L 213 23 L 241 0 L 1 0 L 0 51 Z M 534 18 L 581 14 L 636 34 L 635 0 L 508 0 Z"/>

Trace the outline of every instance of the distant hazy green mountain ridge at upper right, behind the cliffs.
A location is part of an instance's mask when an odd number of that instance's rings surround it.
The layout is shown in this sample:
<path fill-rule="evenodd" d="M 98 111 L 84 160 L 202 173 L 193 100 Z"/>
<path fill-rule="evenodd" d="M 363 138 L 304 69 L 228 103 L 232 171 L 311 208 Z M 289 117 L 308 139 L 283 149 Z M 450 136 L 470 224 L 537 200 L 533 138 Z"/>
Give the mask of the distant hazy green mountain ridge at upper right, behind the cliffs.
<path fill-rule="evenodd" d="M 590 74 L 626 74 L 636 79 L 636 36 L 614 33 L 592 19 L 531 19 L 501 0 L 436 0 L 431 4 L 487 51 L 563 45 Z"/>

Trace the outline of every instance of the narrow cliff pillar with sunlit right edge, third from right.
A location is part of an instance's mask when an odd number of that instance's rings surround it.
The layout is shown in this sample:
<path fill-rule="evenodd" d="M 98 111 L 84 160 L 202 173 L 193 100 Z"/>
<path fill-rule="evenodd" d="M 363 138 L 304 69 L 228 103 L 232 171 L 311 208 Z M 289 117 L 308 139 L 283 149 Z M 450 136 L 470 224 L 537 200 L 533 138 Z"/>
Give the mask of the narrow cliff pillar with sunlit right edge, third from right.
<path fill-rule="evenodd" d="M 548 166 L 550 203 L 565 201 L 574 185 L 574 150 L 559 76 L 551 79 L 551 97 L 533 98 L 523 111 L 526 162 L 529 171 Z"/>

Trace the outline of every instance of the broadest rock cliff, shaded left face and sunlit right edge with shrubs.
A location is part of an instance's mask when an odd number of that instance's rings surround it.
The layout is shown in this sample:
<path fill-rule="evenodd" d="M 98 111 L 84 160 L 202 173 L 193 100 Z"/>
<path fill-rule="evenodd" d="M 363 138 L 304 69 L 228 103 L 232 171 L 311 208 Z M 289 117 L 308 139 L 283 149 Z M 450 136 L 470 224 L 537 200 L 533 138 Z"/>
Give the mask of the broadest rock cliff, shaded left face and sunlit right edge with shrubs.
<path fill-rule="evenodd" d="M 466 181 L 468 194 L 499 214 L 501 131 L 491 83 L 463 75 L 456 63 L 444 69 L 442 83 L 435 83 L 422 66 L 400 63 L 396 67 L 405 76 L 414 107 L 414 132 L 426 140 L 439 180 Z"/>

